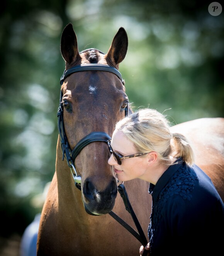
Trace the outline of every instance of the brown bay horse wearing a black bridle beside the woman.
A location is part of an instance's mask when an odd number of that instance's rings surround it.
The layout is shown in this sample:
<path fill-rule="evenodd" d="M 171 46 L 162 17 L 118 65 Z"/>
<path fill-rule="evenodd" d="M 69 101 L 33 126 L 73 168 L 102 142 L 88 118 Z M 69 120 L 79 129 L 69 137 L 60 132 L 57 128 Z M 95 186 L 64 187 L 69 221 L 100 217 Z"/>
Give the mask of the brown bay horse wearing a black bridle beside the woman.
<path fill-rule="evenodd" d="M 139 255 L 141 242 L 110 216 L 113 210 L 133 227 L 131 215 L 117 196 L 119 181 L 107 163 L 106 143 L 115 123 L 133 112 L 119 72 L 127 46 L 127 33 L 121 27 L 106 54 L 95 48 L 79 52 L 72 24 L 63 29 L 65 71 L 57 114 L 56 170 L 41 213 L 37 256 Z M 223 125 L 224 118 L 207 118 L 171 128 L 189 135 L 196 148 L 196 164 L 211 176 L 222 198 Z M 147 237 L 149 183 L 135 179 L 125 182 L 125 187 Z"/>

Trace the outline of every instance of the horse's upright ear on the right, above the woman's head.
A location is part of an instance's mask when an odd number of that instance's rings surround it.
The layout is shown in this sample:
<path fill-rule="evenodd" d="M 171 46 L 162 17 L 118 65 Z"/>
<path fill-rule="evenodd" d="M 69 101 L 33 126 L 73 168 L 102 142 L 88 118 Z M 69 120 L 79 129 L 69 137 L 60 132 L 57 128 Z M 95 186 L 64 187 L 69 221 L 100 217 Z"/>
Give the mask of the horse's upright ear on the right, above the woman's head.
<path fill-rule="evenodd" d="M 112 62 L 119 67 L 119 63 L 122 62 L 127 53 L 128 38 L 124 28 L 120 27 L 117 34 L 114 36 L 112 44 L 105 56 L 109 62 Z"/>

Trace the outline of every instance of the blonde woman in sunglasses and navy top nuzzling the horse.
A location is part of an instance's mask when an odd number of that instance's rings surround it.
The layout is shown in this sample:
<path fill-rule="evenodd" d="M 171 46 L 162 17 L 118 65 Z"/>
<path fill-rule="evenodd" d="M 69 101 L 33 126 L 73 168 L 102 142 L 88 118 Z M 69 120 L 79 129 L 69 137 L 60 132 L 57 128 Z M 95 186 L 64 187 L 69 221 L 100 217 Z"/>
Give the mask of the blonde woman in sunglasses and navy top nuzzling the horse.
<path fill-rule="evenodd" d="M 219 255 L 224 204 L 210 178 L 194 164 L 193 150 L 168 120 L 141 109 L 115 126 L 109 142 L 118 180 L 149 182 L 152 195 L 149 243 L 153 255 Z M 140 255 L 144 247 L 140 248 Z"/>

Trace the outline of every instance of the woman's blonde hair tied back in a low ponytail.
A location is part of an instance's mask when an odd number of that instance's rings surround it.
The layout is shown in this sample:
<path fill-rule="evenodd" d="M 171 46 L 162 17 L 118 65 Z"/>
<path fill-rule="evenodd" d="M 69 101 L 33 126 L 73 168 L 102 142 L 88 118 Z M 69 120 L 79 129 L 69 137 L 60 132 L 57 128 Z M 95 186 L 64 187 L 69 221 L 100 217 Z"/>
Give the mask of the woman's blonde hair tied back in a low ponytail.
<path fill-rule="evenodd" d="M 190 166 L 194 154 L 187 138 L 180 133 L 170 132 L 170 122 L 155 109 L 141 109 L 121 119 L 115 126 L 136 148 L 137 152 L 157 152 L 165 164 L 174 164 L 182 157 Z"/>

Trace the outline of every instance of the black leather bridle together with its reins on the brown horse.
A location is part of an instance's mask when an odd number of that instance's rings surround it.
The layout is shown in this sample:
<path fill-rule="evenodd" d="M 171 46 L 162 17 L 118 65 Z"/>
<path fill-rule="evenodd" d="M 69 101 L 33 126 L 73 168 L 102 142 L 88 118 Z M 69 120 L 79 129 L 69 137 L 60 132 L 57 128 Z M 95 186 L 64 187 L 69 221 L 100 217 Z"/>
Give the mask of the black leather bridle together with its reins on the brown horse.
<path fill-rule="evenodd" d="M 90 49 L 87 49 L 90 50 Z M 86 50 L 85 50 L 86 51 Z M 99 51 L 100 52 L 100 51 Z M 81 54 L 82 52 L 80 52 Z M 102 53 L 102 52 L 100 52 Z M 107 71 L 110 73 L 115 74 L 122 84 L 124 85 L 124 80 L 122 79 L 122 76 L 120 72 L 115 69 L 114 67 L 107 66 L 107 65 L 102 65 L 102 64 L 81 64 L 78 66 L 71 67 L 68 70 L 64 70 L 63 75 L 61 76 L 60 84 L 62 85 L 64 80 L 70 76 L 70 74 L 76 73 L 76 72 L 81 72 L 81 71 Z M 75 168 L 75 159 L 78 156 L 78 154 L 81 152 L 81 150 L 87 146 L 88 144 L 96 141 L 100 142 L 106 142 L 111 139 L 111 137 L 102 131 L 93 131 L 84 138 L 82 138 L 74 147 L 73 150 L 71 150 L 70 145 L 68 143 L 68 139 L 66 137 L 66 133 L 64 130 L 64 121 L 63 121 L 63 104 L 62 104 L 62 97 L 63 97 L 63 92 L 60 92 L 60 100 L 59 100 L 59 107 L 58 107 L 58 131 L 59 131 L 59 137 L 60 137 L 60 142 L 61 142 L 61 150 L 62 150 L 62 160 L 64 161 L 64 158 L 66 159 L 68 163 L 68 167 L 71 169 L 71 173 L 73 175 L 73 179 L 75 181 L 75 186 L 81 190 L 81 176 L 78 175 L 76 168 Z M 127 104 L 127 107 L 125 108 L 125 116 L 128 116 L 128 110 L 129 106 Z M 136 239 L 143 244 L 143 246 L 146 246 L 147 244 L 147 239 L 144 235 L 144 232 L 141 228 L 141 225 L 139 224 L 139 221 L 137 220 L 137 217 L 131 207 L 131 204 L 129 202 L 129 198 L 126 192 L 126 189 L 123 184 L 120 184 L 117 187 L 120 196 L 122 197 L 126 210 L 131 214 L 132 220 L 134 221 L 136 228 L 139 233 L 136 232 L 131 226 L 129 226 L 124 220 L 122 220 L 117 214 L 115 214 L 113 211 L 110 211 L 110 216 L 112 216 L 116 221 L 118 221 L 123 227 L 125 227 Z M 93 213 L 90 213 L 88 209 L 85 208 L 85 210 L 92 215 L 95 215 Z M 143 255 L 146 255 L 148 251 L 144 250 Z"/>

